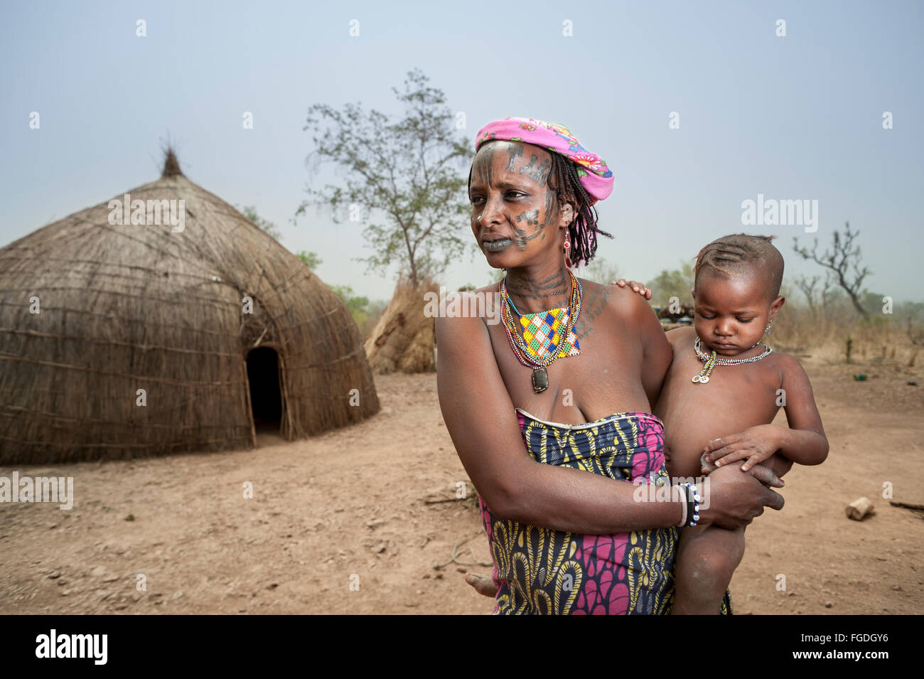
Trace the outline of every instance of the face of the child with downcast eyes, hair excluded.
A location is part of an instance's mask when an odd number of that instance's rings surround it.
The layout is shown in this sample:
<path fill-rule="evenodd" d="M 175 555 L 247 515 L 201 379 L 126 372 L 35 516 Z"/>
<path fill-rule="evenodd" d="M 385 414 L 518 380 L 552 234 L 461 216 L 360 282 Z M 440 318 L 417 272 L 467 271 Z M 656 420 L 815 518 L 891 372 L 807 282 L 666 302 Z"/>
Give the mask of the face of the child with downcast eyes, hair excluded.
<path fill-rule="evenodd" d="M 760 279 L 702 273 L 693 291 L 696 332 L 707 350 L 734 357 L 760 342 L 763 331 L 785 301 L 767 298 Z"/>

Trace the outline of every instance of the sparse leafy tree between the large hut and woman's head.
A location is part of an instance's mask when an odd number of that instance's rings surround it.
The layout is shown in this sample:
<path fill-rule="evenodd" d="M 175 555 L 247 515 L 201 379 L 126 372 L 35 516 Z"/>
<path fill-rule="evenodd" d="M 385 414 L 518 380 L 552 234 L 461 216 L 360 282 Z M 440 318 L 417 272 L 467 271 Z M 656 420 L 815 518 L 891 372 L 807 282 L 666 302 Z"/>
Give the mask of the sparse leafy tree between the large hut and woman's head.
<path fill-rule="evenodd" d="M 359 104 L 347 103 L 342 111 L 325 103 L 311 106 L 305 129 L 313 131 L 316 150 L 309 162 L 334 163 L 346 186 L 309 188 L 310 199 L 296 212 L 308 205 L 330 208 L 339 222 L 341 208 L 359 208 L 372 250 L 360 261 L 378 273 L 397 264 L 398 274 L 413 285 L 466 249 L 461 236 L 471 209 L 465 167 L 473 152 L 468 139 L 456 136 L 443 91 L 428 82 L 415 69 L 404 92 L 392 88 L 405 108 L 398 120 L 374 109 L 365 113 Z"/>

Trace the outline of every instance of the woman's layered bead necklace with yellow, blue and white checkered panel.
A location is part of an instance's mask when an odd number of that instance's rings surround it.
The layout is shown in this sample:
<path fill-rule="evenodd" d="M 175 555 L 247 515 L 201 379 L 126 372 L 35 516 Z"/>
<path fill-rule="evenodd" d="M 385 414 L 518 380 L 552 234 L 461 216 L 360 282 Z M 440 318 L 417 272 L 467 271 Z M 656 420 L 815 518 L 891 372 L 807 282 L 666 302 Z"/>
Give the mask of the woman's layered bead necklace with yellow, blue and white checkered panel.
<path fill-rule="evenodd" d="M 580 315 L 581 287 L 575 274 L 571 271 L 568 274 L 571 276 L 571 300 L 568 306 L 536 313 L 519 312 L 507 294 L 506 276 L 499 285 L 507 340 L 517 360 L 532 369 L 532 389 L 536 394 L 549 388 L 549 371 L 546 368 L 555 359 L 580 353 L 574 328 Z M 517 332 L 513 312 L 519 317 L 523 337 Z"/>

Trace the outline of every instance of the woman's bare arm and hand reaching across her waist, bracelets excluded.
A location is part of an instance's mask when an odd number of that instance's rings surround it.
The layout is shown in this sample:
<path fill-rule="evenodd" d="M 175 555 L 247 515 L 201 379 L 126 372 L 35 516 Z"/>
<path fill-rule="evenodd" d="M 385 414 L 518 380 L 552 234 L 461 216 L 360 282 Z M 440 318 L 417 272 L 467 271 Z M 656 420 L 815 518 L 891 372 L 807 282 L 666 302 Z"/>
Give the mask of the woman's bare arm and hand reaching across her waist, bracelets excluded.
<path fill-rule="evenodd" d="M 436 319 L 436 342 L 437 390 L 446 428 L 468 477 L 495 515 L 595 535 L 670 527 L 680 520 L 679 502 L 637 502 L 632 483 L 542 465 L 529 457 L 480 319 Z M 732 479 L 712 479 L 711 508 L 701 514 L 700 523 L 742 526 L 762 513 L 763 505 L 783 506 L 782 497 L 749 475 L 726 478 Z"/>

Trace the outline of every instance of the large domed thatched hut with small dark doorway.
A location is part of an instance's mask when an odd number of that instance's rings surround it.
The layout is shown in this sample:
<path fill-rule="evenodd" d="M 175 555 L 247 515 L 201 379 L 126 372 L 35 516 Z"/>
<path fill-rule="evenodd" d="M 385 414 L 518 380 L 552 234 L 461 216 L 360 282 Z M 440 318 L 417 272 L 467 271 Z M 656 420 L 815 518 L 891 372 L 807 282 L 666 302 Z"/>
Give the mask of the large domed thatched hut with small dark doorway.
<path fill-rule="evenodd" d="M 340 299 L 172 152 L 0 249 L 0 290 L 0 464 L 249 448 L 379 409 Z"/>

